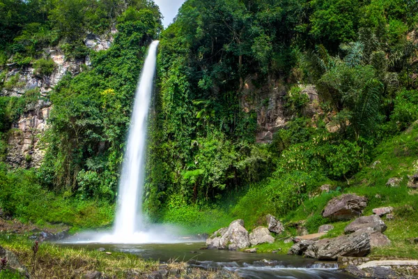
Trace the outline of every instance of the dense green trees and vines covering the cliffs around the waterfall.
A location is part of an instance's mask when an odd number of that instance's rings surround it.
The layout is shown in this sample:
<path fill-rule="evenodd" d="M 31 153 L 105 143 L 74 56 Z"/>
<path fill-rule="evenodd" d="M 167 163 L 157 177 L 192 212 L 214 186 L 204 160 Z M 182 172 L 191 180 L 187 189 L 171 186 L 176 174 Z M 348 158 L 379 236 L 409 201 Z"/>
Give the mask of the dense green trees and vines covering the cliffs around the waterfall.
<path fill-rule="evenodd" d="M 188 0 L 162 30 L 152 1 L 1 0 L 1 88 L 19 85 L 6 79 L 8 64 L 53 73 L 42 47 L 61 47 L 66 59 L 88 56 L 90 66 L 47 96 L 47 153 L 30 175 L 60 197 L 113 203 L 137 77 L 150 40 L 160 38 L 149 216 L 189 226 L 286 216 L 321 184 L 348 183 L 379 142 L 418 119 L 417 3 Z M 114 28 L 109 50 L 84 45 L 87 33 Z M 301 84 L 316 86 L 316 104 Z M 270 144 L 257 143 L 272 92 L 287 123 Z M 33 98 L 41 96 L 0 97 L 0 159 Z M 0 196 L 6 210 L 26 216 L 5 201 Z"/>

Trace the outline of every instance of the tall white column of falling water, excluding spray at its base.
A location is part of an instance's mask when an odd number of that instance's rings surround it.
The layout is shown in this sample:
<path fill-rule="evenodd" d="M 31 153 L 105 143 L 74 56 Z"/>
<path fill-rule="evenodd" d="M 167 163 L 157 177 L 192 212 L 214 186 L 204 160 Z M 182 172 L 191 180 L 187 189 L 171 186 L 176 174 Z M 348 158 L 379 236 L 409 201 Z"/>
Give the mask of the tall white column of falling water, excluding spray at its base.
<path fill-rule="evenodd" d="M 146 130 L 148 111 L 154 87 L 158 40 L 151 43 L 139 77 L 131 116 L 127 149 L 119 182 L 114 234 L 134 236 L 143 227 L 142 196 L 144 191 Z"/>

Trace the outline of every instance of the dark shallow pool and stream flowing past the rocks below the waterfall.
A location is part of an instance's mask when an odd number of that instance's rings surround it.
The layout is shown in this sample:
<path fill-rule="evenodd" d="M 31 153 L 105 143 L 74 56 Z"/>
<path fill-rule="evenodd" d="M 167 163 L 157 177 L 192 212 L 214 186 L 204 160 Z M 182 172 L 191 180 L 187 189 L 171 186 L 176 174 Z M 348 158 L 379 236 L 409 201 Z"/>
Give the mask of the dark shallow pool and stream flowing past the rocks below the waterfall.
<path fill-rule="evenodd" d="M 202 269 L 226 269 L 242 278 L 286 278 L 286 279 L 348 279 L 334 262 L 320 263 L 314 259 L 277 255 L 273 253 L 245 253 L 228 250 L 200 250 L 204 243 L 176 244 L 62 244 L 91 250 L 105 248 L 110 252 L 127 252 L 145 259 L 161 262 L 176 260 L 189 262 Z"/>

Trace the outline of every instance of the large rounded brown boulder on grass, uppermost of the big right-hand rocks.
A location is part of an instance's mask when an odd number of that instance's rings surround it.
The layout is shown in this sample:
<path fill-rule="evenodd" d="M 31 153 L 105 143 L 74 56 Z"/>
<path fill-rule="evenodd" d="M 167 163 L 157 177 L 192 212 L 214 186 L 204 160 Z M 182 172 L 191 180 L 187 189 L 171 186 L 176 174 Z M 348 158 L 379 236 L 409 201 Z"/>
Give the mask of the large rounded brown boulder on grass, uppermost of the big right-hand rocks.
<path fill-rule="evenodd" d="M 332 220 L 350 220 L 353 217 L 362 215 L 363 209 L 367 206 L 367 199 L 353 194 L 345 194 L 334 197 L 328 202 L 323 211 L 324 218 Z"/>

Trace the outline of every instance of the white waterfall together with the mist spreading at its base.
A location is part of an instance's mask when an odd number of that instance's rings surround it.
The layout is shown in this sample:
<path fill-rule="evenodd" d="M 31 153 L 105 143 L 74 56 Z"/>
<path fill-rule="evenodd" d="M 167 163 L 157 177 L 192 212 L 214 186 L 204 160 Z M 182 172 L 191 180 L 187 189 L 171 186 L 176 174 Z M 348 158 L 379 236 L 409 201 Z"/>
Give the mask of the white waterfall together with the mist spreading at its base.
<path fill-rule="evenodd" d="M 146 223 L 142 214 L 144 194 L 146 130 L 148 111 L 153 93 L 157 63 L 158 40 L 150 44 L 135 93 L 134 107 L 127 137 L 114 231 L 84 232 L 71 242 L 76 243 L 176 243 L 178 229 L 172 225 Z M 185 241 L 185 239 L 183 240 Z M 190 239 L 187 239 L 190 241 Z"/>

